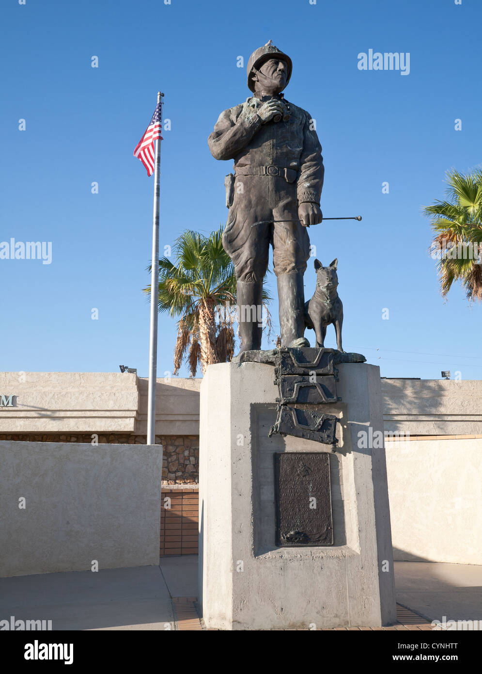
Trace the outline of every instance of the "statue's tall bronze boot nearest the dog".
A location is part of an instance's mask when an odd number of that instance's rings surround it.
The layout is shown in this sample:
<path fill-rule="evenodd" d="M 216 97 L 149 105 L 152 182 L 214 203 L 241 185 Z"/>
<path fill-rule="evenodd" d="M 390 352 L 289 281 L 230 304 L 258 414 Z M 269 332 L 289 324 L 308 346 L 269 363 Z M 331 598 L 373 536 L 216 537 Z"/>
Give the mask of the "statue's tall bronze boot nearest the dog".
<path fill-rule="evenodd" d="M 305 330 L 303 272 L 280 274 L 277 283 L 281 346 L 310 346 L 310 342 L 303 336 Z"/>

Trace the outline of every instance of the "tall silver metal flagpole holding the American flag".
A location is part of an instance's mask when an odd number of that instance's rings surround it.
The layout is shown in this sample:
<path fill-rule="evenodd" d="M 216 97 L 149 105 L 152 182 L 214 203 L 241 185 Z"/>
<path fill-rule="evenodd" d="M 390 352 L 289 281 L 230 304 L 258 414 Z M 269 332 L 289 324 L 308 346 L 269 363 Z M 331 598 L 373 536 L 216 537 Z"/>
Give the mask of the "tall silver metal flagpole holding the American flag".
<path fill-rule="evenodd" d="M 164 94 L 158 91 L 158 103 Z M 162 128 L 162 106 L 161 106 Z M 154 206 L 152 216 L 151 323 L 149 327 L 149 388 L 147 392 L 147 444 L 156 444 L 156 374 L 158 369 L 158 287 L 159 287 L 159 195 L 161 142 L 154 153 Z"/>

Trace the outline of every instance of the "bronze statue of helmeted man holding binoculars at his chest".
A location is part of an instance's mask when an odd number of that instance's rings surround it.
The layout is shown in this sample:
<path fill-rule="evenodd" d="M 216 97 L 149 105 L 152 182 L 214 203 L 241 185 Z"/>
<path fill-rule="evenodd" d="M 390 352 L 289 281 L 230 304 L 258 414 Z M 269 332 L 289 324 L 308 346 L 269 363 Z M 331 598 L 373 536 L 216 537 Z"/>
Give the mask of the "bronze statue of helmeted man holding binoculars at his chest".
<path fill-rule="evenodd" d="M 254 96 L 221 113 L 208 143 L 215 159 L 234 160 L 223 247 L 234 264 L 238 307 L 261 306 L 271 244 L 281 344 L 309 346 L 303 337 L 306 227 L 323 218 L 324 166 L 310 115 L 281 94 L 291 69 L 289 56 L 271 40 L 256 49 L 248 61 Z M 241 350 L 261 349 L 261 331 L 257 315 L 242 314 Z"/>

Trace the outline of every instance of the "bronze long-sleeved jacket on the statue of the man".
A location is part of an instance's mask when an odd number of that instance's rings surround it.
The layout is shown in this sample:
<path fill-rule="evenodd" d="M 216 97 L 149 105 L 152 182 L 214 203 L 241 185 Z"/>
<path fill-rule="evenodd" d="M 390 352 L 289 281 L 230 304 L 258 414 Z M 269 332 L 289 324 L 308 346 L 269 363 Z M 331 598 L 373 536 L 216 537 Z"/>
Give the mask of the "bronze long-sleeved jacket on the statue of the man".
<path fill-rule="evenodd" d="M 298 202 L 320 203 L 324 166 L 321 146 L 310 115 L 293 103 L 287 104 L 289 119 L 262 124 L 256 108 L 262 102 L 255 97 L 225 110 L 209 135 L 209 150 L 215 159 L 234 159 L 234 171 L 256 175 L 261 166 L 277 166 L 288 182 L 296 180 Z M 264 174 L 266 175 L 266 174 Z M 267 175 L 271 175 L 267 171 Z"/>

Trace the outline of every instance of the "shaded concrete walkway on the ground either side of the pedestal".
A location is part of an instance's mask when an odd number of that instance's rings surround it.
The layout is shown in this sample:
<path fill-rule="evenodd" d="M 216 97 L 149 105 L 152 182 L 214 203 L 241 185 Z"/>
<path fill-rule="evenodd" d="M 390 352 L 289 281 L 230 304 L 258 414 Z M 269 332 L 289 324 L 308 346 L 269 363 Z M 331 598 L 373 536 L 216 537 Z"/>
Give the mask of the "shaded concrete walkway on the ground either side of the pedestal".
<path fill-rule="evenodd" d="M 395 582 L 397 602 L 429 621 L 482 620 L 482 566 L 398 561 Z M 162 557 L 159 567 L 0 578 L 0 619 L 51 620 L 53 630 L 197 630 L 196 596 L 197 555 Z"/>

